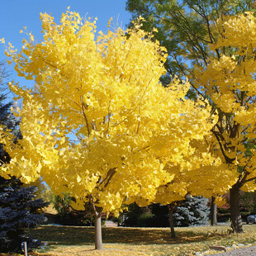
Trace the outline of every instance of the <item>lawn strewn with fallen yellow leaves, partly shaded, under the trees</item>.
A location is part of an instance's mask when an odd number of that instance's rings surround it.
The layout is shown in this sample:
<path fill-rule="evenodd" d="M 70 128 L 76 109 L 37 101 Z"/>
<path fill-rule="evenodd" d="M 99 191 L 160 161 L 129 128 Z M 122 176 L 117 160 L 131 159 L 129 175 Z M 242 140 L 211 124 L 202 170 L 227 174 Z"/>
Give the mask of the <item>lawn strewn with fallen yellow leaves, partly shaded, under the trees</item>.
<path fill-rule="evenodd" d="M 195 255 L 209 251 L 210 245 L 231 247 L 256 244 L 256 225 L 244 225 L 244 234 L 230 235 L 230 228 L 205 226 L 177 228 L 171 239 L 167 228 L 103 228 L 104 250 L 93 245 L 92 227 L 43 225 L 31 231 L 34 239 L 48 242 L 34 255 Z M 31 255 L 31 254 L 30 254 Z"/>

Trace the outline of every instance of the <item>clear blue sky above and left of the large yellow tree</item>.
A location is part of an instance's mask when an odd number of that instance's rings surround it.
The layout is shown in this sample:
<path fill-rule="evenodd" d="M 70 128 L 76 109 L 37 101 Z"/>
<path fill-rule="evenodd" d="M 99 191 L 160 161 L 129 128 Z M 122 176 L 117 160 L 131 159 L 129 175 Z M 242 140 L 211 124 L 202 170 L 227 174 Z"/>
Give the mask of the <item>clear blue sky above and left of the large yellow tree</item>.
<path fill-rule="evenodd" d="M 21 41 L 26 36 L 19 31 L 23 26 L 28 32 L 32 32 L 35 40 L 41 39 L 40 12 L 51 13 L 55 22 L 59 23 L 61 14 L 75 11 L 81 17 L 97 17 L 97 31 L 107 31 L 107 21 L 112 17 L 113 24 L 126 27 L 130 21 L 130 13 L 126 12 L 126 0 L 2 0 L 0 8 L 0 38 L 4 37 L 6 42 L 11 42 L 15 49 L 21 49 Z M 0 45 L 0 60 L 6 60 L 4 48 Z M 13 67 L 8 68 L 10 71 Z M 23 78 L 18 78 L 15 72 L 12 79 L 21 84 L 31 84 Z"/>

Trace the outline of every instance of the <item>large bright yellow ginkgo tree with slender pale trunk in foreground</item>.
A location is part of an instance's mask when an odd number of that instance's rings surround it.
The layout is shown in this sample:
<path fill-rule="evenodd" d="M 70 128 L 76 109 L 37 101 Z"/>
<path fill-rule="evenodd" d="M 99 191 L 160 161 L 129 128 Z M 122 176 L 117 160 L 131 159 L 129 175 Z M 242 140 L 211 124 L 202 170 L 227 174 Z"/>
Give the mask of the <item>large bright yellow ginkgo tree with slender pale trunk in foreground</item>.
<path fill-rule="evenodd" d="M 10 83 L 22 101 L 13 110 L 22 140 L 13 144 L 2 129 L 12 159 L 1 175 L 26 183 L 41 177 L 54 192 L 69 192 L 74 207 L 90 202 L 102 249 L 102 212 L 154 201 L 175 177 L 167 165 L 184 164 L 196 150 L 191 141 L 204 140 L 216 119 L 205 100 L 185 97 L 189 83 L 159 83 L 167 56 L 140 23 L 100 31 L 95 40 L 96 21 L 77 12 L 68 10 L 59 25 L 48 14 L 40 18 L 40 43 L 30 33 L 19 53 L 6 45 L 17 74 L 35 80 L 36 90 Z"/>

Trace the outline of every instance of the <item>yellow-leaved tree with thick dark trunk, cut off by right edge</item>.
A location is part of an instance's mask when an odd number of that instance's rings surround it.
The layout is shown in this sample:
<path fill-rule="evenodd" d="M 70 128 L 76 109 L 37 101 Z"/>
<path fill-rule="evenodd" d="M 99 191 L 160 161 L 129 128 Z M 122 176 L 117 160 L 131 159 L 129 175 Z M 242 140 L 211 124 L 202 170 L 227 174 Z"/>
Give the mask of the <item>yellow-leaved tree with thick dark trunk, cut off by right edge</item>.
<path fill-rule="evenodd" d="M 218 112 L 212 129 L 216 154 L 236 175 L 230 183 L 231 222 L 242 232 L 239 189 L 256 189 L 256 18 L 253 12 L 223 17 L 214 28 L 219 33 L 211 45 L 212 57 L 205 68 L 195 69 L 195 85 L 211 97 Z"/>

